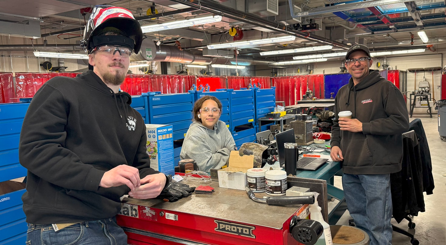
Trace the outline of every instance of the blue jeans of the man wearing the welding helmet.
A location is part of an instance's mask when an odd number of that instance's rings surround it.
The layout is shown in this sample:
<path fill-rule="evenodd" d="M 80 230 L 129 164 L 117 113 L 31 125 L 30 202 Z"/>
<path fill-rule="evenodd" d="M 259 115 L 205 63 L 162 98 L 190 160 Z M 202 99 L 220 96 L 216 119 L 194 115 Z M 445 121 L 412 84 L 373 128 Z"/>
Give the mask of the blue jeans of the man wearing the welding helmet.
<path fill-rule="evenodd" d="M 26 245 L 127 245 L 127 235 L 116 219 L 86 221 L 57 232 L 52 225 L 28 224 Z"/>

